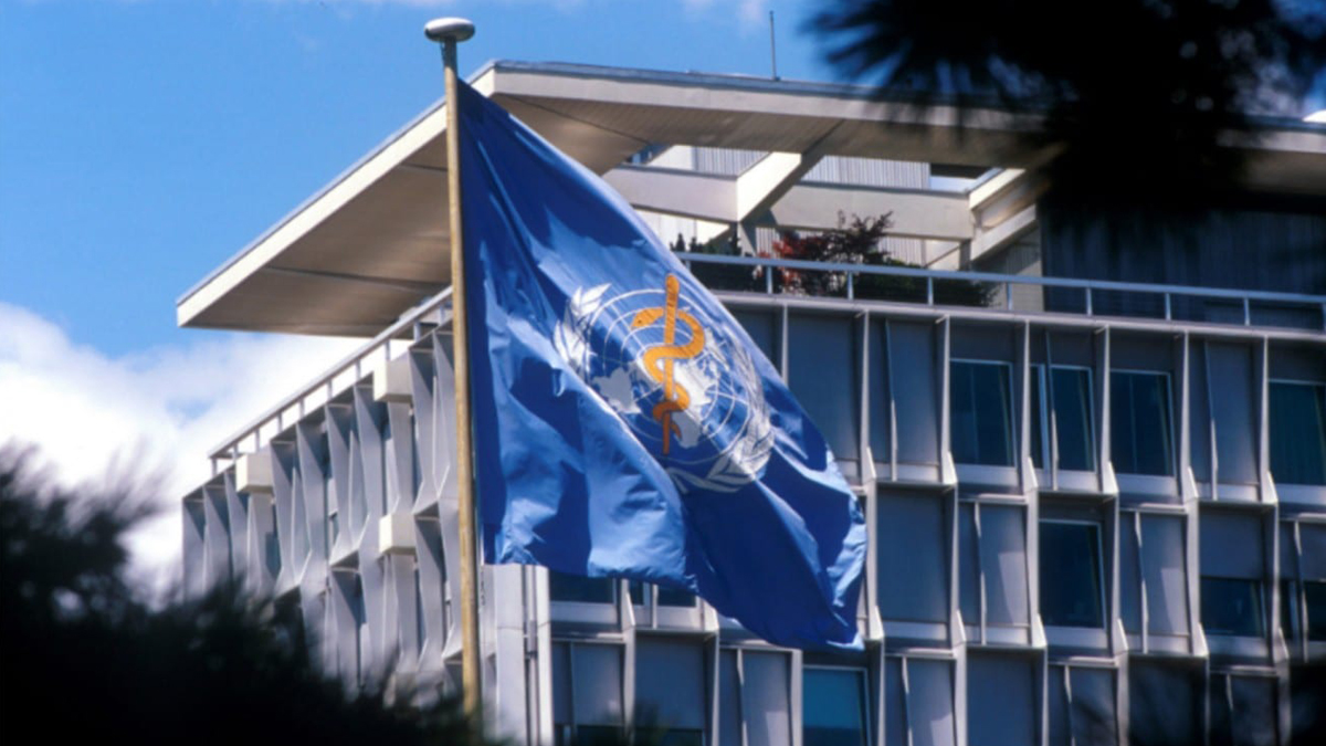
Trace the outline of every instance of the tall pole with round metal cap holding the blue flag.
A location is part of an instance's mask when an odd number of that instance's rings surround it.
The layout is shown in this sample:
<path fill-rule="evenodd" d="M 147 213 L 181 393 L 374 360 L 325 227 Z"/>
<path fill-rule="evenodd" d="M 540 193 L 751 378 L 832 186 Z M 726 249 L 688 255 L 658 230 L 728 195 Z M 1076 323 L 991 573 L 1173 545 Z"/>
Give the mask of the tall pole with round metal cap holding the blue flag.
<path fill-rule="evenodd" d="M 480 721 L 479 567 L 475 531 L 473 450 L 469 442 L 469 329 L 465 315 L 465 254 L 460 219 L 460 123 L 456 45 L 475 35 L 465 19 L 435 19 L 424 35 L 442 42 L 447 94 L 447 202 L 451 232 L 451 331 L 456 361 L 456 483 L 460 510 L 460 664 L 465 714 Z"/>

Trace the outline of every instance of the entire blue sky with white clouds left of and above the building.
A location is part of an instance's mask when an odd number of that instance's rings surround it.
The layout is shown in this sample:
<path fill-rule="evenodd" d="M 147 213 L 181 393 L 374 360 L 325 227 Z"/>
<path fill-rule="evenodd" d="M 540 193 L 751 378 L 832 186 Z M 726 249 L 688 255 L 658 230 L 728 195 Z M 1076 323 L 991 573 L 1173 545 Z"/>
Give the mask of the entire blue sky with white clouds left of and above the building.
<path fill-rule="evenodd" d="M 831 80 L 780 0 L 0 0 L 0 445 L 134 474 L 176 568 L 206 454 L 357 344 L 178 329 L 175 300 L 442 94 L 423 24 L 493 58 Z"/>

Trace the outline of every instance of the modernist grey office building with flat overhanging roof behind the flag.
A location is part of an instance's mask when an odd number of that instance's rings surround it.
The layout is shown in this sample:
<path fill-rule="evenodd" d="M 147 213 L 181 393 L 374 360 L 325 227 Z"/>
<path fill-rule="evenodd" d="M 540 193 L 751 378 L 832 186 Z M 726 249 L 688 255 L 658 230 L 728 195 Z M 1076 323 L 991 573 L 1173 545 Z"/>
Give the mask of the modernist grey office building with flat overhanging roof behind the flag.
<path fill-rule="evenodd" d="M 473 81 L 668 243 L 891 212 L 886 248 L 923 267 L 808 297 L 752 264 L 777 260 L 684 255 L 861 496 L 866 652 L 773 648 L 666 588 L 485 567 L 484 696 L 517 743 L 652 723 L 711 746 L 1270 745 L 1315 714 L 1326 129 L 1269 123 L 1256 199 L 1126 236 L 1124 264 L 1069 230 L 1093 216 L 1030 167 L 1033 117 L 981 112 L 959 138 L 952 112 L 850 86 L 514 62 Z M 183 502 L 188 585 L 274 593 L 351 681 L 459 681 L 443 122 L 179 301 L 184 327 L 367 337 Z"/>

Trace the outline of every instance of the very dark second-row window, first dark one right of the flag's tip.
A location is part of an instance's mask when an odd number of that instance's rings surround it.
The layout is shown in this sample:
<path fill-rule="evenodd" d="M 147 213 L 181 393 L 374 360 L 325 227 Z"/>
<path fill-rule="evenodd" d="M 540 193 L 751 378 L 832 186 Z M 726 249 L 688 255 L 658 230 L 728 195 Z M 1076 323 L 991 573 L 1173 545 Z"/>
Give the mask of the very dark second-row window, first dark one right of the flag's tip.
<path fill-rule="evenodd" d="M 1052 627 L 1105 627 L 1101 527 L 1041 522 L 1041 619 Z"/>

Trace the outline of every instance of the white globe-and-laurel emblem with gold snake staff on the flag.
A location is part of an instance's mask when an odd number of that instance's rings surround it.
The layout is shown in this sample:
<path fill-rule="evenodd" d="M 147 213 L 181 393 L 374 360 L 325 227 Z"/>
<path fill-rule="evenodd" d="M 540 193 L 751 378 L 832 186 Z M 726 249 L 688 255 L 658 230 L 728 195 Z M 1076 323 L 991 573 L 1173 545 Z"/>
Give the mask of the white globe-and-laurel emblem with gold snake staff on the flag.
<path fill-rule="evenodd" d="M 725 321 L 658 289 L 577 289 L 557 324 L 558 354 L 626 422 L 683 492 L 731 492 L 760 478 L 773 427 L 754 361 Z"/>

